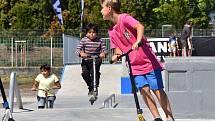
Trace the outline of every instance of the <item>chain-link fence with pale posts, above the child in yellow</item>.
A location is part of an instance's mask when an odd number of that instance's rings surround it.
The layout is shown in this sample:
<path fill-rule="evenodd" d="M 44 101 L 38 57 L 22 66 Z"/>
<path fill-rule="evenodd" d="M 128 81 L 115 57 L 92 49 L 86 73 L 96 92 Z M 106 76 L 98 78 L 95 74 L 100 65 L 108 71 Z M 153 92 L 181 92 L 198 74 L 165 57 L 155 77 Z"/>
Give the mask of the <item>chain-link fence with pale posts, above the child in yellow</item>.
<path fill-rule="evenodd" d="M 62 37 L 0 37 L 0 66 L 62 66 Z"/>

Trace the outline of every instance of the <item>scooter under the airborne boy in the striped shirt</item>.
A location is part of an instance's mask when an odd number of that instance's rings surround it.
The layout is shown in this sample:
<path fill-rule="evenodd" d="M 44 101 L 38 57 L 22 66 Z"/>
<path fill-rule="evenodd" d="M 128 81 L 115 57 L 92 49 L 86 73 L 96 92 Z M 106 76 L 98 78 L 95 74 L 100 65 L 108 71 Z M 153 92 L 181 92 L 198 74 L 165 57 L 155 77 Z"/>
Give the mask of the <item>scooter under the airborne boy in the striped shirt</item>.
<path fill-rule="evenodd" d="M 98 58 L 97 55 L 90 56 L 93 59 L 93 94 L 90 96 L 90 104 L 93 103 L 98 99 L 98 90 L 96 87 L 96 59 Z"/>

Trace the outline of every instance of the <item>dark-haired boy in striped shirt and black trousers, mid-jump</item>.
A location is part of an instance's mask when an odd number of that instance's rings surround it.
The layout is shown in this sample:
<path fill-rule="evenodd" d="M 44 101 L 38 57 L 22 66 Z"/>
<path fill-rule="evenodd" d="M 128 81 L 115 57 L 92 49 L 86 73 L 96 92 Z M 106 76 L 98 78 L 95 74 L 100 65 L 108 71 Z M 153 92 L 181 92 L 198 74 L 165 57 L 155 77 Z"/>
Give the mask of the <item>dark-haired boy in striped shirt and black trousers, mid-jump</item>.
<path fill-rule="evenodd" d="M 85 27 L 86 36 L 83 37 L 77 45 L 76 53 L 82 58 L 81 68 L 84 81 L 88 86 L 88 95 L 93 94 L 93 59 L 92 56 L 98 56 L 95 61 L 96 68 L 96 92 L 98 95 L 99 79 L 100 79 L 100 66 L 102 64 L 102 59 L 107 55 L 107 49 L 105 42 L 97 36 L 98 28 L 96 25 L 89 23 Z"/>

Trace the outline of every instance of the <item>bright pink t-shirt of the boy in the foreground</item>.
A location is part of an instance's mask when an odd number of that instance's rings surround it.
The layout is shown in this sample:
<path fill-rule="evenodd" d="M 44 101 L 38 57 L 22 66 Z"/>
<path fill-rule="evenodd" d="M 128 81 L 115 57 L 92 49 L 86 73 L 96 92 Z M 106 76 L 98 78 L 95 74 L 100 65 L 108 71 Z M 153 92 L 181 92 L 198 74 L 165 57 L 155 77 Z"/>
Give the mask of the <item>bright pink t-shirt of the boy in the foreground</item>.
<path fill-rule="evenodd" d="M 111 48 L 118 47 L 124 53 L 130 50 L 137 40 L 134 26 L 138 23 L 132 16 L 120 14 L 117 24 L 108 29 Z M 142 41 L 144 44 L 129 54 L 133 75 L 146 74 L 156 69 L 163 70 L 147 39 L 143 37 Z"/>

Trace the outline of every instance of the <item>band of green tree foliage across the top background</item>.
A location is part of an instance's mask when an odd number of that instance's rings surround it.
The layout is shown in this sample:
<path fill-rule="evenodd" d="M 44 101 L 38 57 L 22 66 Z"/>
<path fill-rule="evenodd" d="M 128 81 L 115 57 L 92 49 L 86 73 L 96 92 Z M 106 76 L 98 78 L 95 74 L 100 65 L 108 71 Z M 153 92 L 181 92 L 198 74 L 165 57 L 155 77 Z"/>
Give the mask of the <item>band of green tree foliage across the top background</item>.
<path fill-rule="evenodd" d="M 80 29 L 80 0 L 60 0 L 65 29 Z M 99 0 L 84 0 L 83 24 L 93 22 L 106 29 Z M 208 28 L 209 13 L 215 11 L 214 0 L 121 0 L 122 12 L 134 16 L 147 29 L 172 24 L 180 29 L 187 20 Z M 0 0 L 0 29 L 48 29 L 56 20 L 50 0 Z"/>

